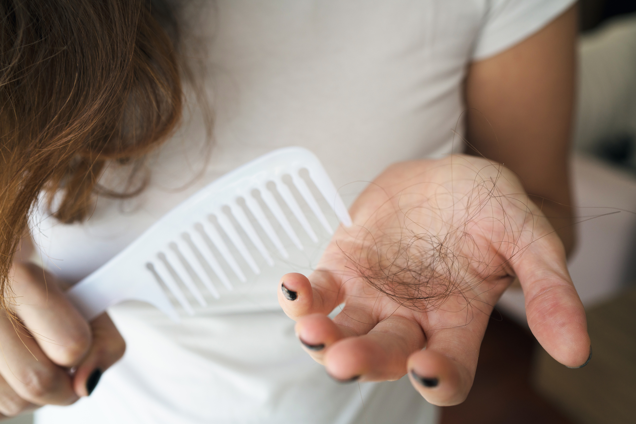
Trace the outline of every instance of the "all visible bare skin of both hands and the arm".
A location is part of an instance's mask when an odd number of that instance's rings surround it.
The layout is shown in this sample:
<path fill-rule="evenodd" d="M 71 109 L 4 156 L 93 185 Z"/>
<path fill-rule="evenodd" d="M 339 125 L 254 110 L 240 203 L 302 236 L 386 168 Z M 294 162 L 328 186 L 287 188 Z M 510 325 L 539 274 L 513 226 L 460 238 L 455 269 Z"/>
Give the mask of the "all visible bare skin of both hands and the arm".
<path fill-rule="evenodd" d="M 334 378 L 396 380 L 414 371 L 439 380 L 435 388 L 425 388 L 411 378 L 429 402 L 462 402 L 473 383 L 492 305 L 515 277 L 525 293 L 530 328 L 548 353 L 567 366 L 579 366 L 588 359 L 590 339 L 583 306 L 565 266 L 566 249 L 574 244 L 570 210 L 563 205 L 570 205 L 567 151 L 575 36 L 576 11 L 569 10 L 508 51 L 469 66 L 466 104 L 478 113 L 469 109 L 467 138 L 472 153 L 493 162 L 452 156 L 388 168 L 356 201 L 350 211 L 354 226 L 338 229 L 319 270 L 308 278 L 300 274 L 283 277 L 298 297 L 289 301 L 279 291 L 282 308 L 298 322 L 296 331 L 302 341 L 325 345 L 308 353 Z M 514 172 L 493 167 L 491 163 L 496 162 Z M 378 296 L 360 279 L 347 278 L 349 259 L 343 252 L 359 254 L 361 248 L 368 249 L 369 230 L 373 235 L 391 233 L 389 229 L 406 222 L 396 224 L 398 217 L 415 222 L 412 231 L 420 226 L 434 235 L 454 234 L 453 229 L 462 222 L 462 209 L 450 215 L 433 214 L 431 210 L 439 208 L 424 199 L 436 198 L 434 187 L 456 195 L 472 193 L 474 181 L 492 181 L 486 177 L 497 181 L 502 196 L 490 200 L 490 208 L 480 212 L 490 211 L 490 215 L 480 217 L 505 214 L 509 227 L 478 220 L 480 224 L 466 228 L 478 240 L 476 250 L 455 252 L 487 259 L 494 267 L 496 272 L 480 285 L 469 287 L 463 296 L 448 296 L 435 310 L 422 312 Z M 525 190 L 535 203 L 523 195 Z M 553 202 L 544 202 L 544 198 Z M 443 200 L 444 196 L 438 196 L 439 202 Z M 522 236 L 515 238 L 517 250 L 502 249 L 501 243 L 492 242 L 527 225 L 533 228 L 532 237 L 518 231 Z M 96 368 L 105 371 L 125 350 L 107 315 L 86 322 L 64 297 L 63 282 L 29 263 L 31 251 L 25 238 L 12 271 L 14 312 L 19 321 L 0 317 L 5 359 L 0 361 L 3 416 L 44 404 L 71 404 L 88 395 L 88 376 Z M 486 276 L 479 264 L 467 269 Z M 326 315 L 342 302 L 346 303 L 342 313 L 329 319 Z M 73 375 L 71 367 L 76 369 Z"/>

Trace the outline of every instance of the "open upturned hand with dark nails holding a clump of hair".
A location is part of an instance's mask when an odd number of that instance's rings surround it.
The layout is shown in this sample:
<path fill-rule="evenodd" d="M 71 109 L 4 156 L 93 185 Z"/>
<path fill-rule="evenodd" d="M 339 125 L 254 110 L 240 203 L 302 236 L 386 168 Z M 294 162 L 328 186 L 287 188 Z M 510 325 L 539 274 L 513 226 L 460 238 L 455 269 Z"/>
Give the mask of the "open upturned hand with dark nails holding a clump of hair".
<path fill-rule="evenodd" d="M 588 360 L 563 245 L 511 171 L 463 155 L 398 163 L 350 214 L 317 270 L 285 275 L 279 291 L 301 342 L 336 380 L 408 372 L 429 402 L 462 402 L 490 312 L 515 277 L 546 351 L 565 366 Z"/>

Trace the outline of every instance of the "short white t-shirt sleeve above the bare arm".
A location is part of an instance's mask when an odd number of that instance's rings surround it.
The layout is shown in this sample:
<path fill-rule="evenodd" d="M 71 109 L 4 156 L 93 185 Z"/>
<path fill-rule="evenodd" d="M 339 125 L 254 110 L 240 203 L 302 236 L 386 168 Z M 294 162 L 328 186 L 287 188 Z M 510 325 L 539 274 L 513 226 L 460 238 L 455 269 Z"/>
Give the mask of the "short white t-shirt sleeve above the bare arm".
<path fill-rule="evenodd" d="M 490 0 L 473 60 L 501 53 L 558 17 L 576 0 Z"/>

